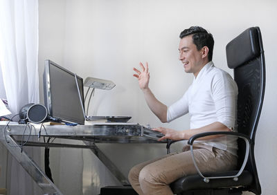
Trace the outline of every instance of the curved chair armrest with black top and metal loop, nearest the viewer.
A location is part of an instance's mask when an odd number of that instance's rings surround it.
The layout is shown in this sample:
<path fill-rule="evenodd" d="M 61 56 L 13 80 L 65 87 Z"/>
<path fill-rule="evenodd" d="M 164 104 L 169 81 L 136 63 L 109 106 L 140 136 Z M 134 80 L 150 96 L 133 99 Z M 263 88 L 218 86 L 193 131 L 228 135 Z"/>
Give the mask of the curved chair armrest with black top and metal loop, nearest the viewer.
<path fill-rule="evenodd" d="M 236 137 L 242 138 L 244 140 L 245 145 L 246 145 L 246 151 L 245 151 L 245 156 L 244 156 L 244 161 L 242 163 L 242 167 L 240 168 L 240 171 L 238 171 L 238 174 L 235 174 L 233 176 L 210 176 L 210 177 L 205 177 L 205 176 L 203 176 L 203 174 L 199 170 L 199 168 L 197 166 L 197 163 L 195 161 L 195 156 L 193 154 L 193 142 L 197 138 L 203 138 L 203 137 L 206 137 L 206 136 L 215 136 L 215 135 L 236 136 Z M 251 142 L 250 138 L 248 136 L 245 136 L 242 133 L 231 132 L 231 131 L 211 131 L 211 132 L 205 132 L 205 133 L 198 133 L 194 136 L 191 136 L 190 139 L 188 140 L 188 145 L 190 145 L 190 153 L 191 153 L 191 156 L 193 158 L 193 163 L 195 165 L 195 168 L 197 169 L 197 172 L 198 172 L 199 176 L 204 178 L 204 182 L 208 183 L 209 179 L 213 179 L 213 178 L 233 178 L 233 180 L 238 180 L 238 176 L 240 176 L 240 174 L 242 174 L 242 171 L 244 170 L 244 167 L 247 164 L 247 159 L 248 159 L 248 156 L 249 156 L 250 142 Z"/>

